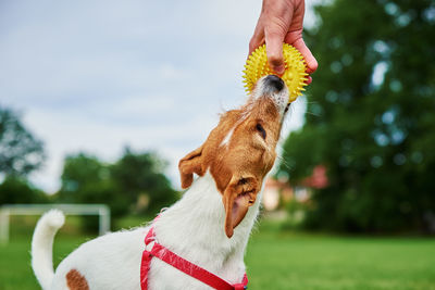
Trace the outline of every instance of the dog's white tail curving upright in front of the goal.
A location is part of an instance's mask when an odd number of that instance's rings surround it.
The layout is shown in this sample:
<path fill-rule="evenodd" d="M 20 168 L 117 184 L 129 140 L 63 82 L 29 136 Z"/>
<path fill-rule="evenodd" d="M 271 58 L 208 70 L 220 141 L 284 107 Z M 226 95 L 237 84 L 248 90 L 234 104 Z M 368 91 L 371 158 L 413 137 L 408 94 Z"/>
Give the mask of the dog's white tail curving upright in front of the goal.
<path fill-rule="evenodd" d="M 54 278 L 53 240 L 55 232 L 63 226 L 65 216 L 59 210 L 42 215 L 36 225 L 32 239 L 32 267 L 42 289 L 48 290 Z"/>

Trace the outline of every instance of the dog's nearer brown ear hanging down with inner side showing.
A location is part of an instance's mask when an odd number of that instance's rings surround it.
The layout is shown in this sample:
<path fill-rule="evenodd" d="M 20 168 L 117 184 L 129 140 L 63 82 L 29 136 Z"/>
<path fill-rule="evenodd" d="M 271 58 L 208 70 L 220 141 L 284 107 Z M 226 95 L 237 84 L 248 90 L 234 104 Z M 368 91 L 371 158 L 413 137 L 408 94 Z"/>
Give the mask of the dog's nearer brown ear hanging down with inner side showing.
<path fill-rule="evenodd" d="M 232 177 L 222 197 L 225 207 L 225 234 L 233 237 L 234 228 L 244 219 L 249 206 L 256 203 L 260 185 L 254 176 Z"/>

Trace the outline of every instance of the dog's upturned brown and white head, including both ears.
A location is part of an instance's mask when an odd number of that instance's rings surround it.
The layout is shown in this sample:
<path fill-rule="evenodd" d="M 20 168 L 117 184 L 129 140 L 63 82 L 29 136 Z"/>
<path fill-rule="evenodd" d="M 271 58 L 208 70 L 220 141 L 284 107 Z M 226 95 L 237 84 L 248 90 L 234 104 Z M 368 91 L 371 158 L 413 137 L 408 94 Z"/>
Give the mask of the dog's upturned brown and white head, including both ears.
<path fill-rule="evenodd" d="M 288 89 L 277 76 L 265 76 L 248 102 L 225 112 L 206 142 L 179 161 L 182 187 L 194 180 L 194 173 L 213 176 L 225 209 L 225 232 L 244 219 L 257 199 L 263 178 L 275 162 L 275 147 L 288 109 Z"/>

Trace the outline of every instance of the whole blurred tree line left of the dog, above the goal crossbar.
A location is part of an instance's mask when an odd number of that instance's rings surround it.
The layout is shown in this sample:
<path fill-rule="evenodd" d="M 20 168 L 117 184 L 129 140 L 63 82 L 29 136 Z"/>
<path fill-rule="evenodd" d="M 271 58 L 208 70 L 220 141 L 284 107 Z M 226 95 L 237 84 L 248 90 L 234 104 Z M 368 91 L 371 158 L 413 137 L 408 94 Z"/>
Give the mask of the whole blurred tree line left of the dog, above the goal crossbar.
<path fill-rule="evenodd" d="M 61 188 L 49 196 L 28 180 L 45 156 L 44 143 L 25 128 L 18 115 L 0 106 L 0 205 L 103 203 L 117 218 L 127 213 L 154 215 L 178 197 L 164 175 L 166 163 L 153 152 L 134 152 L 129 148 L 113 163 L 84 152 L 67 155 Z M 87 220 L 87 228 L 96 226 L 94 218 Z"/>

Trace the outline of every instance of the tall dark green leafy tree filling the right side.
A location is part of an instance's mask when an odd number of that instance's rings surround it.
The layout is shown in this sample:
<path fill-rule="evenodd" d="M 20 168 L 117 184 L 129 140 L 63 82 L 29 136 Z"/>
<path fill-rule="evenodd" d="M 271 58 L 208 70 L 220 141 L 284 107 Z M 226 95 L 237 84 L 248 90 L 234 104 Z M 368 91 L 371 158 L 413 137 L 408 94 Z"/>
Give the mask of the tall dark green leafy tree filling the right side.
<path fill-rule="evenodd" d="M 319 61 L 306 124 L 284 144 L 294 184 L 325 165 L 306 226 L 427 230 L 435 216 L 435 7 L 336 0 L 307 39 Z M 432 220 L 431 220 L 432 216 Z"/>

